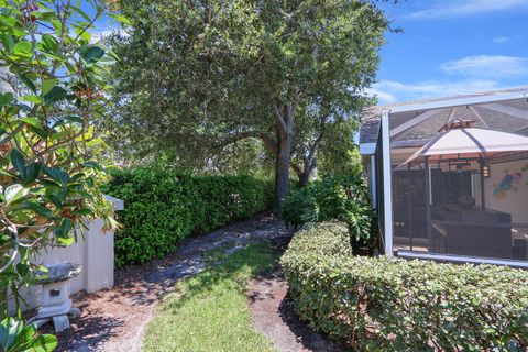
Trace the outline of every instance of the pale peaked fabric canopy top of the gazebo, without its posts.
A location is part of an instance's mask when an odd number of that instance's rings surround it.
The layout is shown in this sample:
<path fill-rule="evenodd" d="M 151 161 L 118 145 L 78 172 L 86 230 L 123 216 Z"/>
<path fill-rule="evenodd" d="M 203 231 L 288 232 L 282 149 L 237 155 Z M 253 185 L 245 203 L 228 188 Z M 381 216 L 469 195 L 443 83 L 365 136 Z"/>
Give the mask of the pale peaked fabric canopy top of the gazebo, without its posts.
<path fill-rule="evenodd" d="M 428 158 L 430 162 L 481 160 L 528 151 L 528 136 L 480 128 L 453 128 L 439 133 L 404 164 Z"/>

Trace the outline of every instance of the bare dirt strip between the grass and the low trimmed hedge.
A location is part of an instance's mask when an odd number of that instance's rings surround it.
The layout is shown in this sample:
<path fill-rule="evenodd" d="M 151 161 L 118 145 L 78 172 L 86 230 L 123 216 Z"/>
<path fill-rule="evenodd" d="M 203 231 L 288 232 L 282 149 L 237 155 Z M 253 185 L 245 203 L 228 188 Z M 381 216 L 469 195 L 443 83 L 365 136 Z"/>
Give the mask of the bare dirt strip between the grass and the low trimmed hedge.
<path fill-rule="evenodd" d="M 249 305 L 255 328 L 282 352 L 344 351 L 298 320 L 287 292 L 279 268 L 251 282 Z"/>

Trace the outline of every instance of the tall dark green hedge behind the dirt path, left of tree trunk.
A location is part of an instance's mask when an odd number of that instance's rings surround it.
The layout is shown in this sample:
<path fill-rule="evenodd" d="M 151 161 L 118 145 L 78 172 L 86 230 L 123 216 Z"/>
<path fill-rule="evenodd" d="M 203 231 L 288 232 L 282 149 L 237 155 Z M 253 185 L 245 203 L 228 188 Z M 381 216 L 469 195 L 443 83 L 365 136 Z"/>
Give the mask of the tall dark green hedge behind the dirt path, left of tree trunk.
<path fill-rule="evenodd" d="M 183 239 L 219 229 L 268 209 L 270 183 L 249 176 L 190 176 L 169 169 L 112 173 L 106 191 L 124 200 L 118 213 L 116 264 L 144 263 Z"/>

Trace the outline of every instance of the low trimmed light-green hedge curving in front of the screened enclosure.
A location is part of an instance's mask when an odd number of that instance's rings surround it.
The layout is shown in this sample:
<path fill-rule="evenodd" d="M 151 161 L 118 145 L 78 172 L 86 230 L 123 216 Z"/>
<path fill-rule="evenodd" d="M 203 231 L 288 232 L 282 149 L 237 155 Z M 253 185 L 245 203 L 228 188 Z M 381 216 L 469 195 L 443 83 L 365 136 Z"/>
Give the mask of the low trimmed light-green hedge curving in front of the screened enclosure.
<path fill-rule="evenodd" d="M 301 319 L 358 351 L 527 351 L 528 272 L 351 256 L 348 227 L 300 230 L 282 257 Z"/>

